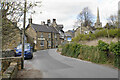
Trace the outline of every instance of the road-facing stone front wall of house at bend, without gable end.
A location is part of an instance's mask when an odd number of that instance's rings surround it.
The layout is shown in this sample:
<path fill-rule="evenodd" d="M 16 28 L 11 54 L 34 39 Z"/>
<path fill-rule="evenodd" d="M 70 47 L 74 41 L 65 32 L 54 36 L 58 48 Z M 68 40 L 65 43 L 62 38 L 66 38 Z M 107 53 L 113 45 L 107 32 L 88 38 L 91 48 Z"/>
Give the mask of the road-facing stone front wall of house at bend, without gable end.
<path fill-rule="evenodd" d="M 41 38 L 41 34 L 43 34 L 43 41 L 44 41 L 44 46 L 41 46 L 40 43 L 42 40 L 39 40 Z M 51 35 L 50 38 L 48 35 Z M 50 49 L 50 48 L 56 48 L 60 44 L 60 39 L 59 39 L 59 34 L 56 34 L 55 38 L 55 33 L 49 33 L 49 32 L 37 32 L 37 50 L 44 50 L 44 49 Z M 50 41 L 51 43 L 49 43 Z M 51 46 L 49 46 L 49 44 Z"/>

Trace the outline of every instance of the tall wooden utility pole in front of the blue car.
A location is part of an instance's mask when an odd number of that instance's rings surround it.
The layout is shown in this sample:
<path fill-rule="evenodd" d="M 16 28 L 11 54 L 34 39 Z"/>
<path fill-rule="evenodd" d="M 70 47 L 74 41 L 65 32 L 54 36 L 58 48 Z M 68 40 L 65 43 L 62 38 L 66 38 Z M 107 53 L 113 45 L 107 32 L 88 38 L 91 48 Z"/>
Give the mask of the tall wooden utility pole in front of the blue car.
<path fill-rule="evenodd" d="M 25 0 L 24 4 L 24 21 L 23 21 L 23 30 L 22 30 L 22 60 L 21 60 L 21 68 L 24 68 L 24 43 L 25 43 L 25 23 L 26 23 L 26 5 L 27 5 L 27 0 Z"/>

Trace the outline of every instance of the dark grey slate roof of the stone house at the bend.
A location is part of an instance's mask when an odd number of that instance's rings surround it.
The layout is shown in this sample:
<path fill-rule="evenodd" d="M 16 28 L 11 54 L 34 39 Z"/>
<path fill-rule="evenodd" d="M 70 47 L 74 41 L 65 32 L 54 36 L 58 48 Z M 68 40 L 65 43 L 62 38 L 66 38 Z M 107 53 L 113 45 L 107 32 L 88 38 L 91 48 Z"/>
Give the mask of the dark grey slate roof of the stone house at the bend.
<path fill-rule="evenodd" d="M 55 27 L 45 25 L 39 25 L 39 24 L 31 24 L 31 27 L 36 32 L 52 32 L 52 33 L 59 33 Z"/>

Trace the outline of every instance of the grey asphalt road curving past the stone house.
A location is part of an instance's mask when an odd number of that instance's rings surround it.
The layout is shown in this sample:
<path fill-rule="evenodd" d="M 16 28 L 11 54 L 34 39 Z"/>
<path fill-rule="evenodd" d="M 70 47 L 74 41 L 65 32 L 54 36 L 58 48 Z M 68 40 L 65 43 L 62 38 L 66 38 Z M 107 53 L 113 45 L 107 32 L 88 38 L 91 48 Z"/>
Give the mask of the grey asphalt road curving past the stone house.
<path fill-rule="evenodd" d="M 91 62 L 65 57 L 56 49 L 34 53 L 32 60 L 25 60 L 25 68 L 38 70 L 43 78 L 117 78 L 118 71 Z M 36 76 L 37 76 L 36 75 Z"/>

